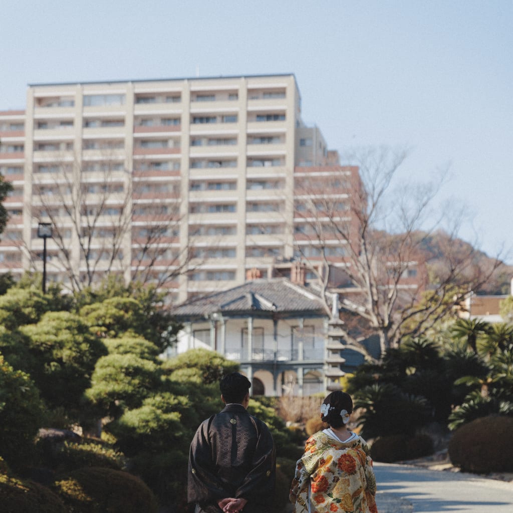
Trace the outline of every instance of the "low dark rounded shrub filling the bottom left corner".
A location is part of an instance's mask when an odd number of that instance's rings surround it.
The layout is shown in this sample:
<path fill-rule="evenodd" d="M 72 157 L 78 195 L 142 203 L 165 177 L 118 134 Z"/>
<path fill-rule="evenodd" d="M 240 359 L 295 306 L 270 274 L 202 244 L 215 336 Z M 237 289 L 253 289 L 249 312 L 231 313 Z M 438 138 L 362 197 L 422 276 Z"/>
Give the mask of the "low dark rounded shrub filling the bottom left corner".
<path fill-rule="evenodd" d="M 49 488 L 0 474 L 2 513 L 67 513 L 64 502 Z"/>

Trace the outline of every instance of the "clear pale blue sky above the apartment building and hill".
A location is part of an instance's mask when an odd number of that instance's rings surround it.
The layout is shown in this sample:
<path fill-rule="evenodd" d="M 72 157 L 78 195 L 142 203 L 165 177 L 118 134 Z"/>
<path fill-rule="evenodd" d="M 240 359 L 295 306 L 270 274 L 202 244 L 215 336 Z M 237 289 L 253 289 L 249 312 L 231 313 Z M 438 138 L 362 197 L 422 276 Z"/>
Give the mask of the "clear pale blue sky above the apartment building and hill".
<path fill-rule="evenodd" d="M 513 264 L 513 0 L 0 2 L 0 110 L 28 84 L 274 73 L 341 155 L 408 148 L 400 181 L 447 170 L 436 209 Z"/>

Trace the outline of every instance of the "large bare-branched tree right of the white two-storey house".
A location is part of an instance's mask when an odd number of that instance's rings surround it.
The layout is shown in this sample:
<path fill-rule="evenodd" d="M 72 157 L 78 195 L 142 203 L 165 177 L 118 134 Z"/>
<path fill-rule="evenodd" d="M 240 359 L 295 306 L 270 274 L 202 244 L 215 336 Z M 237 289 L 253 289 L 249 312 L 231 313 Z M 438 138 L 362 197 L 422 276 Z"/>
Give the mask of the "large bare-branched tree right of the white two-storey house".
<path fill-rule="evenodd" d="M 444 216 L 433 216 L 438 186 L 393 187 L 406 156 L 369 149 L 351 155 L 351 166 L 297 173 L 295 180 L 297 252 L 318 274 L 327 312 L 339 292 L 346 340 L 364 354 L 361 341 L 370 334 L 379 336 L 382 353 L 403 337 L 421 336 L 500 265 L 483 264 L 482 253 L 457 238 L 459 214 L 449 220 L 452 229 L 440 230 Z"/>

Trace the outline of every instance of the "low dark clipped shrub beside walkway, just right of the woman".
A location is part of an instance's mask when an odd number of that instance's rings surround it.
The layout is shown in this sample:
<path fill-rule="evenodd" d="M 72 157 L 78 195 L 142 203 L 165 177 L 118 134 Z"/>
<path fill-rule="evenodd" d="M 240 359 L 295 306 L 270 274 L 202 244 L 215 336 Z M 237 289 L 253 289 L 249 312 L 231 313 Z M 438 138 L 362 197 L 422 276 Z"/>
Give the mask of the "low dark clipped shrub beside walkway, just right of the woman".
<path fill-rule="evenodd" d="M 404 437 L 390 435 L 374 441 L 370 456 L 374 461 L 392 463 L 394 461 L 414 460 L 433 453 L 433 441 L 427 435 Z"/>

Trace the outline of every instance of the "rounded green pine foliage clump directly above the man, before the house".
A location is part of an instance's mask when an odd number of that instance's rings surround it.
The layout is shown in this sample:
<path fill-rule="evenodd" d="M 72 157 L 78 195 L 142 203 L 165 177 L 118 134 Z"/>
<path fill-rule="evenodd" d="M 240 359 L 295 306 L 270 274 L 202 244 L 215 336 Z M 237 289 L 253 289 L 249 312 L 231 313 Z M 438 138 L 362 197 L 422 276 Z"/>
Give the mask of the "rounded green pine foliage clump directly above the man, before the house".
<path fill-rule="evenodd" d="M 199 370 L 201 382 L 208 384 L 219 383 L 225 374 L 239 370 L 239 364 L 227 360 L 215 351 L 190 349 L 170 360 L 166 360 L 163 363 L 163 369 L 170 374 L 177 370 L 194 369 L 194 377 L 198 375 L 196 372 Z M 175 374 L 173 379 L 175 379 L 175 376 L 180 376 L 180 374 Z"/>

